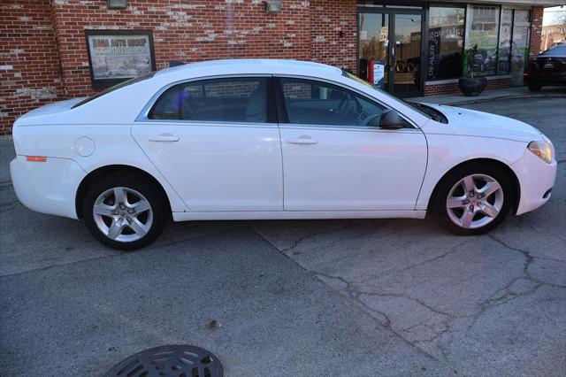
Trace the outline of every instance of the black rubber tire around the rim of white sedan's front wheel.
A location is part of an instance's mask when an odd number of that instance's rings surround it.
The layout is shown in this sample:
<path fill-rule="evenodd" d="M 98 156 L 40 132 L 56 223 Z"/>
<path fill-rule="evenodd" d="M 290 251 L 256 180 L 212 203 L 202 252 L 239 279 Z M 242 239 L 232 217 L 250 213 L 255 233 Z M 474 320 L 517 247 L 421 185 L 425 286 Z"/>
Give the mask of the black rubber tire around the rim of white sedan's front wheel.
<path fill-rule="evenodd" d="M 500 212 L 491 222 L 488 222 L 482 227 L 465 228 L 456 225 L 455 222 L 450 219 L 448 215 L 448 211 L 450 210 L 447 209 L 447 198 L 450 194 L 450 190 L 455 187 L 456 183 L 471 174 L 484 174 L 498 181 L 503 193 L 503 203 Z M 513 203 L 514 189 L 509 180 L 509 176 L 497 165 L 480 162 L 461 165 L 447 173 L 434 189 L 429 209 L 434 219 L 450 233 L 455 235 L 482 235 L 501 224 L 501 221 L 505 219 Z M 479 214 L 478 216 L 482 215 Z M 473 219 L 476 219 L 476 217 Z"/>

